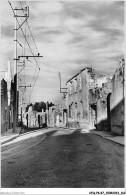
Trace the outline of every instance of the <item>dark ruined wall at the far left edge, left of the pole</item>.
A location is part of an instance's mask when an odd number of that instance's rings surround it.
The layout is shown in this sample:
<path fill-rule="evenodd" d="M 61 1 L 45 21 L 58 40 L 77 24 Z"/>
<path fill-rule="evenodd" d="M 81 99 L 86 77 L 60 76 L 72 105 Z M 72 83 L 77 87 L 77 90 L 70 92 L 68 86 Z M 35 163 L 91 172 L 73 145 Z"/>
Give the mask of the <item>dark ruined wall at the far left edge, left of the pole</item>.
<path fill-rule="evenodd" d="M 1 133 L 8 130 L 8 93 L 7 82 L 1 80 Z"/>

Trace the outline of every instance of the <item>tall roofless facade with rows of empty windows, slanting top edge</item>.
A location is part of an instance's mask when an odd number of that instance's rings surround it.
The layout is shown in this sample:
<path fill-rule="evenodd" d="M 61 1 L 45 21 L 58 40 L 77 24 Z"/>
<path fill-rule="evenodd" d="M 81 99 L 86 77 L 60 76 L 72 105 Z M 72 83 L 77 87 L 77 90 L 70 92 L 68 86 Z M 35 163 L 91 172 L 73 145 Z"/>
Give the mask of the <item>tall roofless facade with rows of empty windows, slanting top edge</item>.
<path fill-rule="evenodd" d="M 89 89 L 93 85 L 92 77 L 93 70 L 87 67 L 67 81 L 68 124 L 78 124 L 78 127 L 90 125 Z"/>

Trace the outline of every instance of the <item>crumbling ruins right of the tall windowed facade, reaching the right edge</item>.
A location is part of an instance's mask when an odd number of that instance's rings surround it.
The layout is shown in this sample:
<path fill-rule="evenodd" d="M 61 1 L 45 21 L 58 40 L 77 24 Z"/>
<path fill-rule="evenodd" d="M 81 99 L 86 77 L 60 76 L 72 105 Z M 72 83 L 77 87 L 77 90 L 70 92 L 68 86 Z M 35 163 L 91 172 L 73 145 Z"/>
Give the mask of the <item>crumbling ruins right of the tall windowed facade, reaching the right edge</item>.
<path fill-rule="evenodd" d="M 91 89 L 89 99 L 95 108 L 97 130 L 124 135 L 124 65 L 121 59 L 113 77 L 102 76 L 104 83 L 101 75 L 95 75 L 97 87 Z"/>

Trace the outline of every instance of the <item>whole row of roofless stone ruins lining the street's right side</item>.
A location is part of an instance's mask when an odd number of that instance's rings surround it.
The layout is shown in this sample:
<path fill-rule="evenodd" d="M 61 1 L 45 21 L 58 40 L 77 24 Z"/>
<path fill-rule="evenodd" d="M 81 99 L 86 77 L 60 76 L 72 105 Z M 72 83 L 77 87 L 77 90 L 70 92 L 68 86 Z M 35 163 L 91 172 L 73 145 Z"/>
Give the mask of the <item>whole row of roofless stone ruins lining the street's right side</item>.
<path fill-rule="evenodd" d="M 62 101 L 67 126 L 124 134 L 124 65 L 121 59 L 114 76 L 87 67 L 67 81 Z"/>

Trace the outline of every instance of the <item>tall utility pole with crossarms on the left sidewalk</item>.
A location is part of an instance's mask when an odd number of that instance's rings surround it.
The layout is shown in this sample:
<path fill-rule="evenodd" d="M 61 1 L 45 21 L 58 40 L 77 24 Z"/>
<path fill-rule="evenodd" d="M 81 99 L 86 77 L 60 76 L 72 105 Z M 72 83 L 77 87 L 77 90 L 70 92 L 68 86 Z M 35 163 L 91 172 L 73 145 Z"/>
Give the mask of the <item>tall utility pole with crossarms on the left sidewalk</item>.
<path fill-rule="evenodd" d="M 29 57 L 33 57 L 36 61 L 36 57 L 43 57 L 43 56 L 40 56 L 40 53 L 38 53 L 38 55 L 34 55 L 34 53 L 32 52 L 31 50 L 31 47 L 26 39 L 26 36 L 22 30 L 22 25 L 27 21 L 27 19 L 29 18 L 29 7 L 26 6 L 25 8 L 21 8 L 21 9 L 18 9 L 18 8 L 15 8 L 13 9 L 12 5 L 11 5 L 11 2 L 8 1 L 8 3 L 10 4 L 10 7 L 14 13 L 14 18 L 15 18 L 15 26 L 14 26 L 14 103 L 13 103 L 13 132 L 16 132 L 16 127 L 18 125 L 18 100 L 19 100 L 19 91 L 18 91 L 18 72 L 17 72 L 17 61 L 20 60 L 21 57 L 26 57 L 26 59 L 28 59 Z M 18 14 L 18 11 L 20 13 L 20 15 Z M 21 15 L 21 11 L 23 11 L 23 15 Z M 19 21 L 18 21 L 18 18 L 24 18 L 24 21 L 20 24 Z M 18 24 L 18 25 L 17 25 Z M 32 56 L 18 56 L 17 58 L 17 43 L 18 43 L 18 40 L 17 40 L 17 31 L 21 29 L 22 31 L 22 34 L 24 35 L 24 38 L 31 50 L 31 53 L 32 53 Z M 36 61 L 37 63 L 37 61 Z M 40 70 L 40 68 L 39 68 Z M 21 87 L 28 87 L 28 86 L 21 86 Z M 30 86 L 31 87 L 31 86 Z"/>

